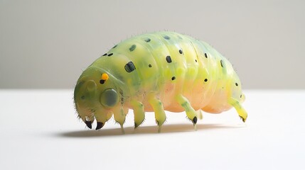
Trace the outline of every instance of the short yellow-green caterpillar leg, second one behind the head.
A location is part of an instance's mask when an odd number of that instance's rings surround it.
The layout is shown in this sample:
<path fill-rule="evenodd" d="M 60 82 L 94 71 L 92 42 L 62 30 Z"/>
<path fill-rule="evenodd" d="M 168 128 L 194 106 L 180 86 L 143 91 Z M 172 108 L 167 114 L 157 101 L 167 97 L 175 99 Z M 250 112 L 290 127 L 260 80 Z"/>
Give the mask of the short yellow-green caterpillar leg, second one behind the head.
<path fill-rule="evenodd" d="M 134 109 L 134 128 L 137 128 L 145 118 L 144 106 L 139 101 L 131 101 L 131 105 Z"/>

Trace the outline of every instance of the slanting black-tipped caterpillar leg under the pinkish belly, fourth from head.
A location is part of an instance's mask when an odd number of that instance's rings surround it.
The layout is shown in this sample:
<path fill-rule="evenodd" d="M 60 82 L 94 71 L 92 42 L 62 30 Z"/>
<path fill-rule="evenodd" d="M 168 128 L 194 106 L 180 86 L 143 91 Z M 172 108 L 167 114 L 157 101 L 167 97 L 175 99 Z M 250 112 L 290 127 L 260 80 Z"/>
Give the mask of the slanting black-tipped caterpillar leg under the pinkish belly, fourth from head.
<path fill-rule="evenodd" d="M 192 120 L 194 128 L 196 129 L 197 113 L 191 106 L 191 103 L 188 101 L 187 98 L 183 96 L 177 96 L 176 100 L 184 108 L 184 110 L 186 111 L 186 115 L 190 120 Z"/>

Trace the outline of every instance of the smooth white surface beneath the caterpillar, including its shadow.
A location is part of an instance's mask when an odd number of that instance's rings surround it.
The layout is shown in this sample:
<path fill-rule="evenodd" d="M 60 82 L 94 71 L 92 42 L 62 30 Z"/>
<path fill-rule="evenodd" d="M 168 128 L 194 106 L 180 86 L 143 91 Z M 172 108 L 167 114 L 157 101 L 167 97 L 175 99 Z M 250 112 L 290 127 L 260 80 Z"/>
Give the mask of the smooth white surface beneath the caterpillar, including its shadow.
<path fill-rule="evenodd" d="M 126 135 L 77 121 L 72 90 L 0 90 L 1 169 L 304 169 L 305 91 L 245 91 L 249 117 L 205 113 L 193 130 L 185 113 L 154 115 Z M 95 125 L 95 124 L 94 124 Z"/>

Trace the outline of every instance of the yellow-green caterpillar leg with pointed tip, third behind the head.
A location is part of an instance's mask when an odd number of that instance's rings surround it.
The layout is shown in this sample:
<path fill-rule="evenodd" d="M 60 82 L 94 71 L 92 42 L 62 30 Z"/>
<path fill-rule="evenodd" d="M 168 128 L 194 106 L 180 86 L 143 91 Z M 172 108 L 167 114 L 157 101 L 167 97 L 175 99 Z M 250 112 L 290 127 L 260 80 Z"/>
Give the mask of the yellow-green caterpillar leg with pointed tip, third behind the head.
<path fill-rule="evenodd" d="M 161 125 L 166 120 L 163 104 L 156 96 L 149 96 L 149 104 L 154 109 L 156 123 L 159 126 L 158 132 L 161 132 Z"/>

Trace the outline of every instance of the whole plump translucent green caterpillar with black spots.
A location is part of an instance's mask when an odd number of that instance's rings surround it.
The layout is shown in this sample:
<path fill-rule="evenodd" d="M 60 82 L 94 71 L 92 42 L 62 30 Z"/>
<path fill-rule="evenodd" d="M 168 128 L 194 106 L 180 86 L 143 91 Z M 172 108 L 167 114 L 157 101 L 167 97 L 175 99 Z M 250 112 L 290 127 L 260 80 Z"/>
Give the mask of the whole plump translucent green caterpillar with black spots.
<path fill-rule="evenodd" d="M 78 117 L 96 130 L 109 118 L 121 126 L 129 108 L 134 128 L 154 111 L 158 132 L 164 110 L 186 111 L 194 127 L 201 111 L 221 113 L 234 107 L 243 122 L 240 79 L 232 64 L 208 43 L 174 32 L 146 33 L 114 45 L 82 72 L 74 91 Z"/>

